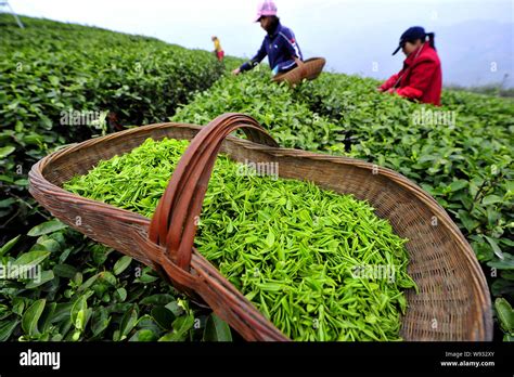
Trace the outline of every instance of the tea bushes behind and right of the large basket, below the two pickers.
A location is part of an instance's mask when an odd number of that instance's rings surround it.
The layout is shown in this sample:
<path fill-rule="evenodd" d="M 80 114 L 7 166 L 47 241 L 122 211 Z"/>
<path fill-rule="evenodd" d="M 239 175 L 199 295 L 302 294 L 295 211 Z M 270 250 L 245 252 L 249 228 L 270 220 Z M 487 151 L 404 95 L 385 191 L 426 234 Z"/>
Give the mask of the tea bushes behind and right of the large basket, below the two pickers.
<path fill-rule="evenodd" d="M 345 155 L 394 169 L 432 194 L 472 245 L 493 296 L 514 299 L 514 101 L 445 91 L 442 106 L 380 93 L 378 82 L 322 74 L 296 89 L 266 68 L 227 77 L 171 119 L 255 117 L 285 147 Z"/>

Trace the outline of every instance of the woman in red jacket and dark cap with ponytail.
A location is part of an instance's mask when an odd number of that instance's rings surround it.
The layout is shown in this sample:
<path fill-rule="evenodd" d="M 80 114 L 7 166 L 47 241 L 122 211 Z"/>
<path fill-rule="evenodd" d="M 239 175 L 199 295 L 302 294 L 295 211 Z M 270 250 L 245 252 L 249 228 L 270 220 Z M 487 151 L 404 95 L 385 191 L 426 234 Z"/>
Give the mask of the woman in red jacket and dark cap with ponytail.
<path fill-rule="evenodd" d="M 442 74 L 434 32 L 426 34 L 421 26 L 410 27 L 401 35 L 400 46 L 393 55 L 400 49 L 407 55 L 403 69 L 393 75 L 378 90 L 440 106 Z"/>

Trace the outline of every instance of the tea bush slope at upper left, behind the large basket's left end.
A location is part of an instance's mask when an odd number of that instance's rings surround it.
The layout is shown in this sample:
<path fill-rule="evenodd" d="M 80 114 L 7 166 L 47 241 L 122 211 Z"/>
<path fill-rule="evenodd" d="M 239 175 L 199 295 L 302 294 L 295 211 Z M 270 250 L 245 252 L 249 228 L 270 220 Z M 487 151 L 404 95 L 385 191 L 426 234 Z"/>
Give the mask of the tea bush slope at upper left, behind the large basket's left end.
<path fill-rule="evenodd" d="M 124 126 L 159 122 L 224 72 L 206 51 L 154 38 L 0 14 L 0 221 L 38 212 L 34 162 L 56 147 Z M 0 239 L 1 242 L 2 239 Z"/>

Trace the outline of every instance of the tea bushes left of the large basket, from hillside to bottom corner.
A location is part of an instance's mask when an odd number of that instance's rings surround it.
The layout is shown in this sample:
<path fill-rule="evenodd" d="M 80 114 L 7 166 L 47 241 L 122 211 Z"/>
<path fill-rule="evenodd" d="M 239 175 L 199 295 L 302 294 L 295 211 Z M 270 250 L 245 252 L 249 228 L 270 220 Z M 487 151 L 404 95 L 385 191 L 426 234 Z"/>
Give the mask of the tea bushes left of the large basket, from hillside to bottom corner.
<path fill-rule="evenodd" d="M 64 144 L 165 121 L 224 67 L 208 52 L 154 38 L 28 17 L 20 29 L 11 18 L 0 14 L 0 259 L 41 274 L 0 280 L 0 340 L 147 341 L 169 333 L 201 340 L 208 311 L 193 315 L 151 269 L 49 218 L 27 192 L 27 173 Z M 75 118 L 88 112 L 100 117 Z M 29 237 L 16 236 L 28 230 Z M 154 306 L 141 303 L 157 294 L 180 334 L 163 329 Z M 181 326 L 182 317 L 198 322 Z"/>

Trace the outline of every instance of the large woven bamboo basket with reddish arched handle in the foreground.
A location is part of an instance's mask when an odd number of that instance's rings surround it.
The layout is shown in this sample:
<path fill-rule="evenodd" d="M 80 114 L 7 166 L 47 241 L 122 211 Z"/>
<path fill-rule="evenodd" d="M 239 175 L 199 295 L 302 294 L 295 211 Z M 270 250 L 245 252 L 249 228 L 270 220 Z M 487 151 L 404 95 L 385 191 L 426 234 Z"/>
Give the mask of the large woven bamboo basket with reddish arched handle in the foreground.
<path fill-rule="evenodd" d="M 248 140 L 229 135 L 237 128 Z M 130 152 L 147 138 L 191 140 L 152 219 L 62 188 L 72 177 Z M 278 147 L 243 115 L 227 114 L 205 127 L 144 126 L 68 146 L 31 168 L 29 190 L 57 219 L 154 268 L 245 339 L 288 340 L 193 246 L 192 219 L 201 212 L 218 153 L 235 161 L 278 162 L 280 177 L 351 193 L 388 219 L 395 232 L 409 239 L 408 272 L 420 288 L 419 294 L 406 294 L 409 308 L 400 332 L 406 340 L 491 340 L 491 303 L 481 269 L 457 225 L 426 192 L 395 171 L 358 159 Z"/>

